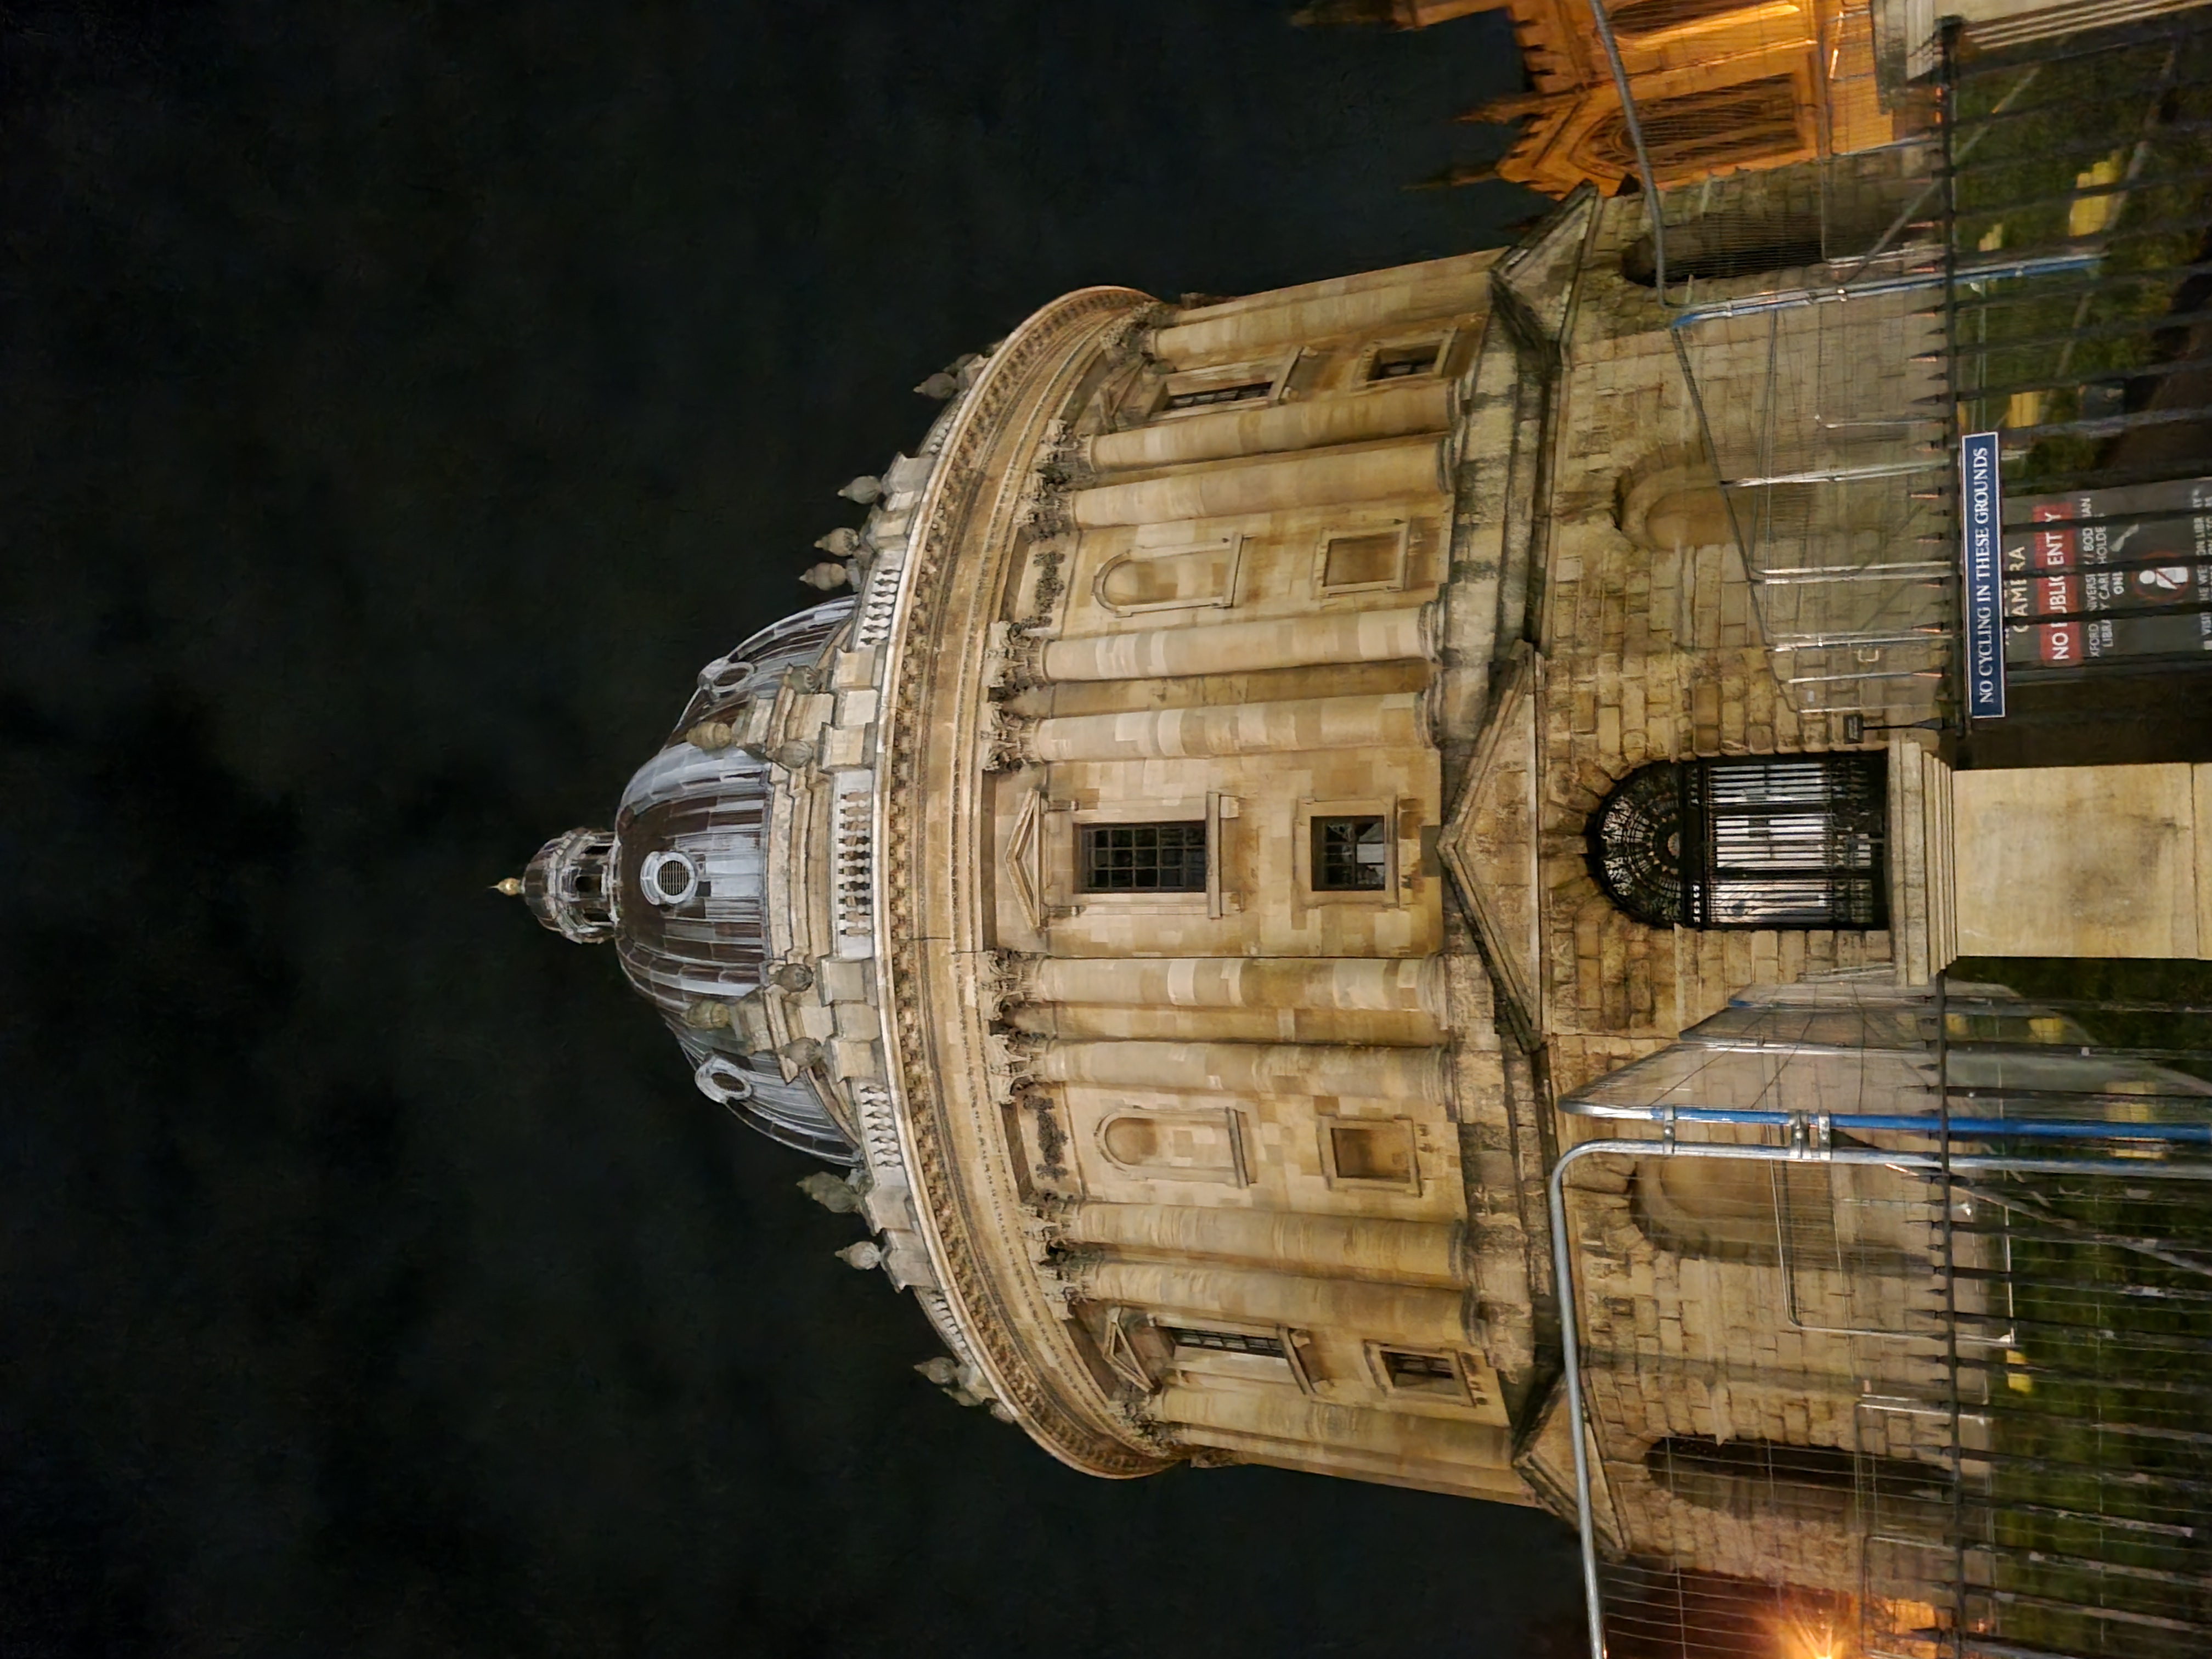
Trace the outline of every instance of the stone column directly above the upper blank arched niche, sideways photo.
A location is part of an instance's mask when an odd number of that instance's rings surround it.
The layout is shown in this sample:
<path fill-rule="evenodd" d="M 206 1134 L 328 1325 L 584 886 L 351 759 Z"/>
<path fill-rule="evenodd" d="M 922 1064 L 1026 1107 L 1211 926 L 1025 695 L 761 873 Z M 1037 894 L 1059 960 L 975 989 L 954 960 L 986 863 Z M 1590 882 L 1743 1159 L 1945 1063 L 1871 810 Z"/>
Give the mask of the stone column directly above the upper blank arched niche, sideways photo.
<path fill-rule="evenodd" d="M 1130 484 L 1095 484 L 1068 495 L 1068 513 L 1082 529 L 1168 524 L 1186 518 L 1440 495 L 1447 487 L 1447 442 L 1413 438 L 1374 449 L 1321 449 L 1285 460 L 1225 462 Z"/>

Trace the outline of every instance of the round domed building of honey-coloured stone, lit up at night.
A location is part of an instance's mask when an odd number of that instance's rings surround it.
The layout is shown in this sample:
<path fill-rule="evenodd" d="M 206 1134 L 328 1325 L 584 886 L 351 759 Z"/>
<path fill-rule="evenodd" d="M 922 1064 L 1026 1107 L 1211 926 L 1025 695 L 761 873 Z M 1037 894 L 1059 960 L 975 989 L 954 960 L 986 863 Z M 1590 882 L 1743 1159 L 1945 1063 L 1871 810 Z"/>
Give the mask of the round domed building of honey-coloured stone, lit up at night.
<path fill-rule="evenodd" d="M 2179 571 L 2166 611 L 2097 599 L 2086 551 L 2070 599 L 2015 568 L 2028 719 L 1969 723 L 1955 427 L 2020 427 L 2006 478 L 2084 546 L 2188 524 L 2212 467 L 2077 458 L 2137 491 L 2079 511 L 2028 456 L 2084 387 L 1962 392 L 1931 232 L 1880 246 L 1933 168 L 1701 186 L 1688 292 L 1646 201 L 1584 188 L 1511 250 L 1044 305 L 847 489 L 812 577 L 852 595 L 708 664 L 520 891 L 615 947 L 701 1093 L 825 1161 L 925 1369 L 1062 1462 L 1575 1517 L 1546 1181 L 1606 1115 L 1781 1102 L 1818 1152 L 1924 1093 L 1938 1033 L 1978 1099 L 2212 1095 L 1986 984 L 1933 1013 L 1962 956 L 2212 956 L 2212 748 L 2139 717 L 2212 688 L 2212 562 L 2115 566 Z M 1880 281 L 1809 299 L 1849 261 L 1807 217 Z M 2146 622 L 2124 672 L 2046 661 Z M 2004 1243 L 1924 1170 L 1663 1148 L 1564 1186 L 1599 1546 L 1867 1597 L 1869 1537 L 1938 1548 L 2008 1398 L 1889 1338 L 1986 1312 Z"/>

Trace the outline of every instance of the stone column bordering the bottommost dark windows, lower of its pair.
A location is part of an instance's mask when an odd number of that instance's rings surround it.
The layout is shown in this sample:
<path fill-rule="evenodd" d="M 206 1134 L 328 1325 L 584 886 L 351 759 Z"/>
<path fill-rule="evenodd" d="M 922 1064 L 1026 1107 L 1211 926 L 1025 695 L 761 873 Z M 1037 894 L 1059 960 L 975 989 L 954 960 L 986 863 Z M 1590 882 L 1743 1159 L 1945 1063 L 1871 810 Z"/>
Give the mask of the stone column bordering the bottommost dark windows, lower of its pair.
<path fill-rule="evenodd" d="M 1093 1301 L 1124 1307 L 1356 1332 L 1420 1347 L 1467 1347 L 1480 1340 L 1473 1296 L 1464 1290 L 1307 1279 L 1188 1261 L 1099 1261 L 1079 1270 L 1077 1281 Z"/>

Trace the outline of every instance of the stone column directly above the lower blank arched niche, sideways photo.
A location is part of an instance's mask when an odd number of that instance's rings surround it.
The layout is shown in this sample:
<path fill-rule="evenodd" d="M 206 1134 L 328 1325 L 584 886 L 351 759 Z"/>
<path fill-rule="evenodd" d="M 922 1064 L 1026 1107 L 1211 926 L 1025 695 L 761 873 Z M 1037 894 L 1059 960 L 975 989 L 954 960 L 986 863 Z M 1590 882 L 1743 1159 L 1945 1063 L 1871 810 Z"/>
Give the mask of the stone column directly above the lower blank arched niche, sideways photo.
<path fill-rule="evenodd" d="M 1444 1104 L 1442 1048 L 1321 1042 L 1046 1042 L 1048 1084 L 1177 1088 L 1217 1095 L 1354 1095 Z"/>

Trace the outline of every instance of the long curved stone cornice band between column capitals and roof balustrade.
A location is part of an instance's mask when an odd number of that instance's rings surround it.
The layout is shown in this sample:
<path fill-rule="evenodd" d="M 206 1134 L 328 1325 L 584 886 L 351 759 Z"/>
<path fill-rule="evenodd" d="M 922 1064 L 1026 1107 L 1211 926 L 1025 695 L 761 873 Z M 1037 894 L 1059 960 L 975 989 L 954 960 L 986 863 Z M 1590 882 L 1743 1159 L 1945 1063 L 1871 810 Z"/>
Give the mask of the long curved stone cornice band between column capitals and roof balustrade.
<path fill-rule="evenodd" d="M 1031 1261 L 1035 1217 L 975 995 L 991 973 L 980 883 L 993 867 L 978 745 L 989 628 L 1035 515 L 1033 467 L 1055 453 L 1051 422 L 1141 305 L 1146 294 L 1119 288 L 1046 305 L 984 361 L 942 429 L 880 679 L 874 825 L 887 1075 L 945 1314 L 1013 1418 L 1095 1475 L 1141 1475 L 1168 1458 L 1099 1387 Z"/>

